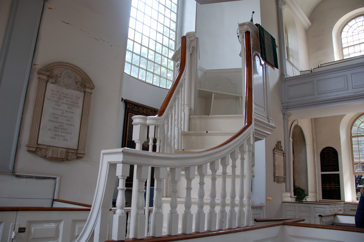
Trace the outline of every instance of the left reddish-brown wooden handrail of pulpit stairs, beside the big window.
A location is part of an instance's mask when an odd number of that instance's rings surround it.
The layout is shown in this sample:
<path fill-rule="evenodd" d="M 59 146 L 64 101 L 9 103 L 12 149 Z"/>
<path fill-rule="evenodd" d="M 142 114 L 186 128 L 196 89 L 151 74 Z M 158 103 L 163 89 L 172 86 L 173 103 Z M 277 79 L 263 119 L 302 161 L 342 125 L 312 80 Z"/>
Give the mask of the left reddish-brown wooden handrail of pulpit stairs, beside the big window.
<path fill-rule="evenodd" d="M 182 82 L 181 78 L 183 76 L 183 72 L 186 69 L 186 56 L 187 56 L 187 37 L 186 36 L 182 36 L 181 38 L 181 57 L 179 60 L 179 69 L 177 72 L 176 77 L 174 78 L 174 81 L 172 83 L 171 88 L 169 89 L 166 98 L 163 100 L 163 103 L 161 105 L 161 107 L 159 108 L 157 115 L 155 115 L 155 117 L 161 117 L 164 112 L 167 109 L 167 106 L 169 104 L 169 102 L 172 99 L 173 93 L 176 90 L 178 83 Z"/>

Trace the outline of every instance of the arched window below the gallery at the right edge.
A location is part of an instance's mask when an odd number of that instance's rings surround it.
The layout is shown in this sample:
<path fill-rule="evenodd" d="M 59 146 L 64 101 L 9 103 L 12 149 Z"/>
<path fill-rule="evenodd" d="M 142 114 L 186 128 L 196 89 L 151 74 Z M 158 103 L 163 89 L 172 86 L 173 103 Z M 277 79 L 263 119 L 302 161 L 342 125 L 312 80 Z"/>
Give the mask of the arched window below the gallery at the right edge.
<path fill-rule="evenodd" d="M 364 175 L 364 113 L 352 123 L 350 138 L 354 175 Z"/>

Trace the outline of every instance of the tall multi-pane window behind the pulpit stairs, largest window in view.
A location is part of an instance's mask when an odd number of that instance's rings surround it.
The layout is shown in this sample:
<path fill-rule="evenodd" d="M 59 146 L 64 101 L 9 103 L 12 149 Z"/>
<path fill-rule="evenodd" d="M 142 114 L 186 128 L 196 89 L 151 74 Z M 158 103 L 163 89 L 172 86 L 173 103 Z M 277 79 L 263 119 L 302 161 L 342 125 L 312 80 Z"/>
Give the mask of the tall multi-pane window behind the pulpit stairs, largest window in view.
<path fill-rule="evenodd" d="M 173 82 L 178 0 L 132 0 L 124 71 L 170 88 Z"/>

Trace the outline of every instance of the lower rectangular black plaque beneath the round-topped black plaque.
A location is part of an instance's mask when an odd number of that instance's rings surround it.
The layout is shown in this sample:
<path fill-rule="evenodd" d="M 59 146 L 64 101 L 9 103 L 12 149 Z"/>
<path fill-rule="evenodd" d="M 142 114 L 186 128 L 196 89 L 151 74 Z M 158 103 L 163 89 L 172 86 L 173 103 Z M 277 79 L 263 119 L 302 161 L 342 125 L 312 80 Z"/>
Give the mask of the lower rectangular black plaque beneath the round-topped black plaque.
<path fill-rule="evenodd" d="M 341 200 L 340 174 L 321 174 L 323 200 Z"/>

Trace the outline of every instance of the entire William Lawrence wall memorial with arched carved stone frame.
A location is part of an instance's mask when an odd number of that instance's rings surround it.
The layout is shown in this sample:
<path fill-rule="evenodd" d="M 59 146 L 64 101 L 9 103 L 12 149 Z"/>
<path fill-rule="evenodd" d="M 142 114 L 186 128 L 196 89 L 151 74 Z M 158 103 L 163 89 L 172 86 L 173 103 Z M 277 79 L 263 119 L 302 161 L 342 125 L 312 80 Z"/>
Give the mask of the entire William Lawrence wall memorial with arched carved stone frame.
<path fill-rule="evenodd" d="M 66 62 L 50 63 L 37 74 L 27 151 L 47 160 L 82 158 L 94 83 L 81 68 Z"/>

